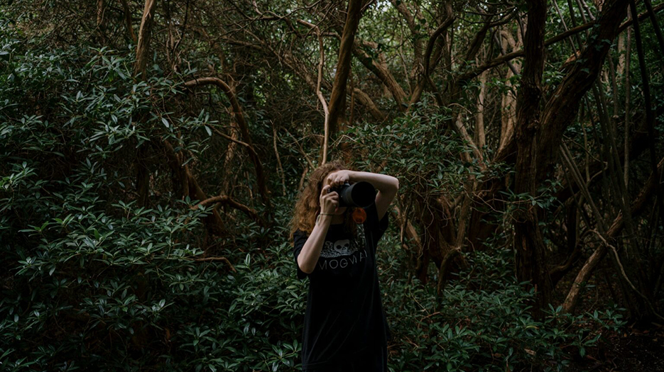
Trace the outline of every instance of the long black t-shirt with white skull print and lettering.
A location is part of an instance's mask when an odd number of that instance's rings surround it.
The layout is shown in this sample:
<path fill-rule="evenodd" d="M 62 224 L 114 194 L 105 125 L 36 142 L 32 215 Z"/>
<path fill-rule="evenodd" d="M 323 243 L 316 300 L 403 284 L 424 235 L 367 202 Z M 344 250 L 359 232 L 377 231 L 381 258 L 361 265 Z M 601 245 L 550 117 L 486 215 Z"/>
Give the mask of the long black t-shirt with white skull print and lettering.
<path fill-rule="evenodd" d="M 293 235 L 298 278 L 309 278 L 303 329 L 303 368 L 334 366 L 352 361 L 367 349 L 387 346 L 391 332 L 381 303 L 376 244 L 388 227 L 389 211 L 378 220 L 376 204 L 364 208 L 366 220 L 357 225 L 357 239 L 344 225 L 330 225 L 314 271 L 298 266 L 308 235 Z"/>

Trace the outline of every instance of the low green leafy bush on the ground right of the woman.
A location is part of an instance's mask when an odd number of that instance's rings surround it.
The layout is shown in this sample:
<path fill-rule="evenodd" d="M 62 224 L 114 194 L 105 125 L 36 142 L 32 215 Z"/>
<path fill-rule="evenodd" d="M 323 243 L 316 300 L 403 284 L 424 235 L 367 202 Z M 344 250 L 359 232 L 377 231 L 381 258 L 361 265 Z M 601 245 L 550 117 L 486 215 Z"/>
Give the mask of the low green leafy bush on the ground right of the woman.
<path fill-rule="evenodd" d="M 406 259 L 395 243 L 383 242 L 383 267 Z M 602 332 L 624 325 L 615 309 L 569 315 L 550 308 L 543 321 L 535 321 L 526 305 L 534 293 L 516 282 L 511 252 L 469 252 L 465 258 L 469 268 L 440 298 L 417 278 L 408 283 L 398 267 L 381 274 L 396 339 L 391 371 L 561 371 Z"/>

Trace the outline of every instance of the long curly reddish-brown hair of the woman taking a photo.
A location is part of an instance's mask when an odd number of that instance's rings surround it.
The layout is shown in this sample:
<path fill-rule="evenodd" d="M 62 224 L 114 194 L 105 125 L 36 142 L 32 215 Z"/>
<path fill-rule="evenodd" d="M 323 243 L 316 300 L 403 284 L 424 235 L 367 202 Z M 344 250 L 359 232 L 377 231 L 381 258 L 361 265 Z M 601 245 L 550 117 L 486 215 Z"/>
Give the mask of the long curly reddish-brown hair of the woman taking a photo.
<path fill-rule="evenodd" d="M 315 223 L 316 218 L 320 214 L 320 193 L 322 192 L 323 182 L 327 175 L 340 170 L 346 170 L 346 164 L 343 160 L 336 159 L 331 162 L 322 164 L 312 171 L 306 186 L 300 191 L 298 201 L 295 202 L 293 210 L 293 218 L 290 220 L 290 235 L 289 239 L 293 241 L 293 233 L 296 230 L 302 230 L 310 235 Z M 357 227 L 354 220 L 350 217 L 354 208 L 346 208 L 344 212 L 344 230 L 352 232 L 353 235 L 357 233 Z"/>

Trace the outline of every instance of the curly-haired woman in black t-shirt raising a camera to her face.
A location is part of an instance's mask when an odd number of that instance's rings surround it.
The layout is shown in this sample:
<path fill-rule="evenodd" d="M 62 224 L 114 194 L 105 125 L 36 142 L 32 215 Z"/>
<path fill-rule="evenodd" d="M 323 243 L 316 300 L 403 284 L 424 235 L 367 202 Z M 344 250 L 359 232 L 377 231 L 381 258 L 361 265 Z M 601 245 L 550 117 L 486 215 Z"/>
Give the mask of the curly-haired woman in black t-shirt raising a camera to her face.
<path fill-rule="evenodd" d="M 329 188 L 366 181 L 378 189 L 366 208 L 339 208 Z M 387 325 L 376 271 L 376 244 L 388 227 L 398 179 L 350 171 L 334 161 L 313 171 L 290 227 L 298 278 L 309 278 L 303 329 L 305 372 L 386 372 Z"/>

